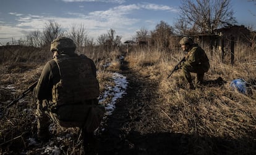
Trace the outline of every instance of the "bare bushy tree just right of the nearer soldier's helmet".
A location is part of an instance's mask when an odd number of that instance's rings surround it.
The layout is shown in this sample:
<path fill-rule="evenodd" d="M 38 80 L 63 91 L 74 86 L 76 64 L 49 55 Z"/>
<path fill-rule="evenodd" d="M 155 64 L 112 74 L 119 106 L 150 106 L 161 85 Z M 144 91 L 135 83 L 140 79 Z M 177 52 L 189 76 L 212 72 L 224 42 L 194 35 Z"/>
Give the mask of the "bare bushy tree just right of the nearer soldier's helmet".
<path fill-rule="evenodd" d="M 73 25 L 69 33 L 69 38 L 75 42 L 77 52 L 82 54 L 84 52 L 83 49 L 85 47 L 85 43 L 88 39 L 87 31 L 85 30 L 84 25 L 80 25 L 79 27 Z"/>

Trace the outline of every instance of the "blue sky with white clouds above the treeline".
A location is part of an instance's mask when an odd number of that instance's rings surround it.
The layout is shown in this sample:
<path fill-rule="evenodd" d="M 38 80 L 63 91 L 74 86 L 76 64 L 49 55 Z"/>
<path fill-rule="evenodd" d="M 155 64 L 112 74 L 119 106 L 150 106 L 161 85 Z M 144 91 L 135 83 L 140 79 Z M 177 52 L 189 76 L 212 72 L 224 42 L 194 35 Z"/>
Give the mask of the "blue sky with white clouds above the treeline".
<path fill-rule="evenodd" d="M 231 0 L 237 25 L 256 30 L 255 3 Z M 43 31 L 49 20 L 57 22 L 63 30 L 83 25 L 94 40 L 113 29 L 124 42 L 142 28 L 154 30 L 161 20 L 173 26 L 180 6 L 181 2 L 176 0 L 1 0 L 0 43 Z"/>

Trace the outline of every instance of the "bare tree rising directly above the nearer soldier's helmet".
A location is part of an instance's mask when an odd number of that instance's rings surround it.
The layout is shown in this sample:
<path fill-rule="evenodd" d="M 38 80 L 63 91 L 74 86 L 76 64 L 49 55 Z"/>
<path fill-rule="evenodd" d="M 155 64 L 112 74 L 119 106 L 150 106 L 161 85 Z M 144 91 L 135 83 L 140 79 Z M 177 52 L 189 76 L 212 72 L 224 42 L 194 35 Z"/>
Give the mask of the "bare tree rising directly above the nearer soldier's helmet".
<path fill-rule="evenodd" d="M 49 20 L 48 23 L 45 24 L 45 28 L 43 30 L 42 41 L 43 44 L 47 45 L 54 39 L 63 36 L 64 31 L 61 28 L 59 23 L 55 22 L 54 20 Z"/>

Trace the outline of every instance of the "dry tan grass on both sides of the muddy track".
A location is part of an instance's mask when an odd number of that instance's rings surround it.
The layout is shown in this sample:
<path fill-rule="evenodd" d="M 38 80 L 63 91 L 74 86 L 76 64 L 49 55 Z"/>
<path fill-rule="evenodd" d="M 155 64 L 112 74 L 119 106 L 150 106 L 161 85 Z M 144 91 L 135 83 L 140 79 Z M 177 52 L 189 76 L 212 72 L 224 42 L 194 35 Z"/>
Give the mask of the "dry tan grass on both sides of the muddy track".
<path fill-rule="evenodd" d="M 226 55 L 223 63 L 219 52 L 213 52 L 210 56 L 210 50 L 205 49 L 205 51 L 210 58 L 211 65 L 210 70 L 205 74 L 205 79 L 215 80 L 221 76 L 226 84 L 206 85 L 202 89 L 187 90 L 187 84 L 180 71 L 167 79 L 169 72 L 182 58 L 182 54 L 176 51 L 135 51 L 127 54 L 125 60 L 137 73 L 158 82 L 160 101 L 156 106 L 156 111 L 159 111 L 162 119 L 168 120 L 166 124 L 163 124 L 163 128 L 174 133 L 192 135 L 189 144 L 194 154 L 215 154 L 213 149 L 217 145 L 216 139 L 225 140 L 226 143 L 221 144 L 223 149 L 236 148 L 228 149 L 229 154 L 254 154 L 256 153 L 255 51 L 244 46 L 236 46 L 237 57 L 235 56 L 233 66 L 230 65 L 229 54 Z M 113 86 L 110 72 L 120 70 L 118 60 L 120 54 L 113 52 L 101 57 L 104 59 L 99 61 L 96 54 L 92 55 L 97 58 L 95 62 L 98 68 L 100 91 L 104 92 L 106 87 Z M 22 63 L 8 67 L 1 66 L 0 83 L 1 85 L 15 84 L 15 89 L 18 91 L 15 94 L 20 94 L 20 91 L 38 79 L 43 69 L 42 66 L 23 65 Z M 32 71 L 28 68 L 32 68 Z M 194 77 L 195 74 L 192 76 Z M 252 96 L 243 95 L 229 87 L 229 83 L 236 78 L 243 78 L 252 84 Z M 14 98 L 14 95 L 5 97 L 6 92 L 0 92 L 0 95 L 1 100 Z M 1 120 L 1 143 L 17 137 L 21 142 L 12 142 L 12 144 L 22 144 L 23 134 L 27 134 L 24 132 L 26 128 L 28 132 L 35 134 L 34 114 L 30 110 L 35 109 L 34 102 L 34 100 L 22 102 L 27 105 L 27 110 L 23 110 L 19 104 L 15 105 L 11 108 L 11 115 Z M 28 116 L 31 119 L 27 119 Z M 66 131 L 60 132 L 64 135 Z M 69 146 L 67 154 L 79 154 L 81 145 L 78 140 L 75 140 L 67 141 Z M 242 153 L 241 150 L 245 150 L 244 148 L 247 148 L 247 152 Z"/>

